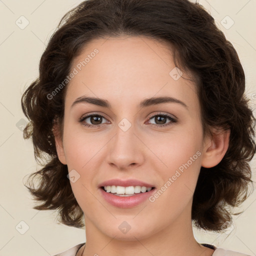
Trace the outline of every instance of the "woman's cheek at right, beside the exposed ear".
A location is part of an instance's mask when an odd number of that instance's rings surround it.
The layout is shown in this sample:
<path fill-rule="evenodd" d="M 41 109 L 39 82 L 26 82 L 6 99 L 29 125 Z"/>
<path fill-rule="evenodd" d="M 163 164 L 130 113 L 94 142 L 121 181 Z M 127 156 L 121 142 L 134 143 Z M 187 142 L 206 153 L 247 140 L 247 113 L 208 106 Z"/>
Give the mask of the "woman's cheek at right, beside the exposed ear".
<path fill-rule="evenodd" d="M 157 152 L 161 163 L 158 167 L 155 161 L 151 164 L 154 164 L 161 180 L 161 203 L 178 204 L 180 200 L 188 201 L 191 198 L 201 167 L 201 139 L 200 131 L 190 128 L 190 132 L 182 130 L 157 140 L 154 152 Z"/>

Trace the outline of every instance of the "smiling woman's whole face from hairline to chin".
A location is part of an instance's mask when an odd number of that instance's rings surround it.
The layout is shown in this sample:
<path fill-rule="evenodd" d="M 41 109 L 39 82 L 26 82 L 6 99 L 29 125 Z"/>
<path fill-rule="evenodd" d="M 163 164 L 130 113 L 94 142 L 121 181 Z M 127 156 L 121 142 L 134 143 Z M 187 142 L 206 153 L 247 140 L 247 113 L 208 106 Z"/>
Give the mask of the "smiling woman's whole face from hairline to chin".
<path fill-rule="evenodd" d="M 195 85 L 171 54 L 148 37 L 110 37 L 92 40 L 72 62 L 58 156 L 86 233 L 132 240 L 191 223 L 205 145 Z M 169 100 L 148 100 L 158 97 Z"/>

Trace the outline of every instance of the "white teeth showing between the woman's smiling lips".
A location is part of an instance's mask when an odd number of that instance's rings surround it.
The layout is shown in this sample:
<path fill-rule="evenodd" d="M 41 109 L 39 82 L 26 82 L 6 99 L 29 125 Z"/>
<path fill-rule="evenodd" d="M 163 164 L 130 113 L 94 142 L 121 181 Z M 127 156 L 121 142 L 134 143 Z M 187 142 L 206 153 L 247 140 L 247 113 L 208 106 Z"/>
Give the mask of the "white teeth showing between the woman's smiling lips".
<path fill-rule="evenodd" d="M 118 186 L 118 185 L 106 185 L 100 187 L 102 190 L 104 190 L 106 193 L 111 193 L 116 196 L 134 196 L 141 193 L 147 193 L 150 190 L 154 189 L 154 186 Z"/>

